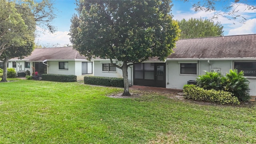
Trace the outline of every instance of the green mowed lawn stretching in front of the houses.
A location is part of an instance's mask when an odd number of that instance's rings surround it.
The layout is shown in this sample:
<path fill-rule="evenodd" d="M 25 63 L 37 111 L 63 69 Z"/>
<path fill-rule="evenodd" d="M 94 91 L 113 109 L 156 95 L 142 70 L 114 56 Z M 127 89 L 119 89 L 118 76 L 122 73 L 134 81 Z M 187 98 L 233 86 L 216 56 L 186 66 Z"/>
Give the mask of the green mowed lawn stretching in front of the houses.
<path fill-rule="evenodd" d="M 252 144 L 256 107 L 204 106 L 74 83 L 0 83 L 0 144 Z"/>

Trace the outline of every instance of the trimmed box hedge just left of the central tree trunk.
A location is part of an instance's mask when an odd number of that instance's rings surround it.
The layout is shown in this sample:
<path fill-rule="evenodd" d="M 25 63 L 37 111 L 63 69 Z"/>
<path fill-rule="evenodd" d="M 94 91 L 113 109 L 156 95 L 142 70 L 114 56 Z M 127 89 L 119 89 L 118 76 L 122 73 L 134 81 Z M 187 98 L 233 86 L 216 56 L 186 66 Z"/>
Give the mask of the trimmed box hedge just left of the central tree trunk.
<path fill-rule="evenodd" d="M 102 76 L 84 76 L 84 84 L 93 84 L 99 86 L 114 86 L 124 88 L 123 78 L 110 78 Z"/>

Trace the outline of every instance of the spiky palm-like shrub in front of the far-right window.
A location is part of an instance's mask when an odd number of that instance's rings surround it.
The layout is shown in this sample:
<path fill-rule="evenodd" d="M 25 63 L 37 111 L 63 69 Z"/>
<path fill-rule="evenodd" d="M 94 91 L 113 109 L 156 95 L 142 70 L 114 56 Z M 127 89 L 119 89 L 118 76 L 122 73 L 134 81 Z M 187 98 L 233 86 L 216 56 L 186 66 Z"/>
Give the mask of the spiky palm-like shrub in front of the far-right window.
<path fill-rule="evenodd" d="M 250 81 L 244 77 L 244 72 L 238 73 L 238 70 L 230 70 L 222 78 L 223 89 L 232 92 L 240 101 L 248 101 L 250 99 Z"/>

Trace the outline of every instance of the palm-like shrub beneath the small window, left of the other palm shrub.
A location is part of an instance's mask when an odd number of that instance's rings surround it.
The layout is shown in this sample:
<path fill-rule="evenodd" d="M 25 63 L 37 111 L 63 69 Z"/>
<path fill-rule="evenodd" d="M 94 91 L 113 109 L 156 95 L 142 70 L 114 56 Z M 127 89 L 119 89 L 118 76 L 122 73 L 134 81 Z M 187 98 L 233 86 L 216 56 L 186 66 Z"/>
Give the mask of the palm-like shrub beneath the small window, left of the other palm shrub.
<path fill-rule="evenodd" d="M 222 77 L 220 72 L 206 72 L 205 75 L 196 78 L 196 81 L 197 85 L 205 90 L 222 90 Z"/>

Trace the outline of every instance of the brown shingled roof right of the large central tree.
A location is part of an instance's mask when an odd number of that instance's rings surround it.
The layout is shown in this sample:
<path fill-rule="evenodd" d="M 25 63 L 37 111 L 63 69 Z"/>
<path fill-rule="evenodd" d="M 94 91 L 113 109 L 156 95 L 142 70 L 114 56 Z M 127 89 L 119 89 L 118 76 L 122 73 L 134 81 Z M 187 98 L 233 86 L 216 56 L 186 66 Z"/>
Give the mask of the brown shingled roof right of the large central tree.
<path fill-rule="evenodd" d="M 256 58 L 256 34 L 181 39 L 167 58 Z"/>

